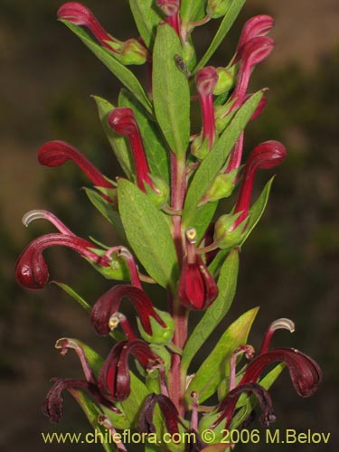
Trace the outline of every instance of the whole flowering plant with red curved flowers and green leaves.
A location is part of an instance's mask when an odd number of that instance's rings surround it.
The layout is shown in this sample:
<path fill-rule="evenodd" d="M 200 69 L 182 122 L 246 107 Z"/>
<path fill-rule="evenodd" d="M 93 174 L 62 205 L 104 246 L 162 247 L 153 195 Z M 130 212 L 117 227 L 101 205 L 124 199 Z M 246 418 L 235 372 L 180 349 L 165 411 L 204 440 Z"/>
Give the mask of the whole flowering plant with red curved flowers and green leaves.
<path fill-rule="evenodd" d="M 114 341 L 103 358 L 89 345 L 61 338 L 56 348 L 78 354 L 83 380 L 57 378 L 43 403 L 54 422 L 62 415 L 61 392 L 71 393 L 93 428 L 146 435 L 145 450 L 223 451 L 225 428 L 243 428 L 259 405 L 268 426 L 275 413 L 268 389 L 283 368 L 302 397 L 312 395 L 322 372 L 295 349 L 270 348 L 278 329 L 292 332 L 282 318 L 264 334 L 259 353 L 248 344 L 258 312 L 253 308 L 225 329 L 202 365 L 194 368 L 213 330 L 227 315 L 236 291 L 239 252 L 268 202 L 272 179 L 251 202 L 255 175 L 282 163 L 287 152 L 278 141 L 256 146 L 245 163 L 244 128 L 266 107 L 264 89 L 248 93 L 250 74 L 268 57 L 274 42 L 268 15 L 252 17 L 225 67 L 206 65 L 240 13 L 245 0 L 129 0 L 140 37 L 120 42 L 107 33 L 89 9 L 77 2 L 62 5 L 58 17 L 102 61 L 125 88 L 118 106 L 95 97 L 99 118 L 126 177 L 103 175 L 80 151 L 64 141 L 45 143 L 42 165 L 72 160 L 94 185 L 89 201 L 112 224 L 120 243 L 105 246 L 78 237 L 52 212 L 31 211 L 58 232 L 43 235 L 23 251 L 16 264 L 18 282 L 42 288 L 49 280 L 43 251 L 56 245 L 76 250 L 104 278 L 118 281 L 92 305 L 71 287 L 58 283 L 90 313 L 90 324 Z M 200 61 L 194 28 L 221 19 Z M 89 37 L 82 27 L 89 29 Z M 94 38 L 94 39 L 93 39 Z M 127 66 L 145 65 L 143 88 Z M 201 130 L 193 131 L 190 112 L 201 109 Z M 231 212 L 219 216 L 218 203 L 238 191 Z M 159 299 L 148 287 L 158 285 Z M 124 314 L 129 300 L 136 322 Z M 188 334 L 189 314 L 202 311 Z M 136 361 L 129 368 L 130 356 Z M 240 359 L 246 363 L 239 366 Z M 278 364 L 266 372 L 269 364 Z M 212 440 L 202 435 L 212 431 Z M 192 433 L 193 442 L 175 440 Z M 164 434 L 171 438 L 164 440 Z M 207 440 L 208 439 L 208 440 Z M 107 451 L 127 450 L 122 442 L 105 443 Z"/>

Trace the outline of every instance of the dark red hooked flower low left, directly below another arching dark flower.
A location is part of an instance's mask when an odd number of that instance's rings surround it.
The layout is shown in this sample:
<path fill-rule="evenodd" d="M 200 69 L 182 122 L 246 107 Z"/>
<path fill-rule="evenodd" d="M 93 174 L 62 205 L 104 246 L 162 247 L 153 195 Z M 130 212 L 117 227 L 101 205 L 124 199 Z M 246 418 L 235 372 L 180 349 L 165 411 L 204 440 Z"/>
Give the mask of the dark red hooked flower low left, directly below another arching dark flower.
<path fill-rule="evenodd" d="M 146 342 L 139 339 L 119 342 L 112 348 L 99 372 L 99 390 L 106 399 L 122 401 L 129 396 L 128 358 L 130 354 L 137 358 L 147 372 L 152 372 L 162 364 L 162 360 L 152 352 Z"/>

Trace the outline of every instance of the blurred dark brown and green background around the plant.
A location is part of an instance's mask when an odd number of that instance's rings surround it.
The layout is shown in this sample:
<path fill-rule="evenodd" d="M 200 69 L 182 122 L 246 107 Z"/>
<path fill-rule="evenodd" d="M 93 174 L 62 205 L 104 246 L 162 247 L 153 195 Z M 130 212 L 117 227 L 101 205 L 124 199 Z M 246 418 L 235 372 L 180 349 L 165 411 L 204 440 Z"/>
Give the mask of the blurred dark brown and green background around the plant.
<path fill-rule="evenodd" d="M 80 307 L 52 285 L 41 291 L 16 286 L 14 263 L 21 250 L 41 233 L 52 231 L 37 221 L 24 229 L 24 212 L 45 208 L 78 235 L 117 244 L 108 223 L 80 190 L 89 185 L 74 165 L 49 169 L 36 162 L 45 141 L 64 139 L 79 147 L 114 177 L 119 173 L 101 130 L 90 94 L 115 102 L 118 81 L 62 24 L 55 20 L 57 0 L 0 0 L 0 448 L 69 450 L 45 445 L 40 432 L 89 431 L 80 409 L 65 396 L 64 420 L 49 424 L 40 406 L 53 376 L 80 377 L 72 353 L 61 357 L 54 342 L 77 337 L 101 353 L 108 341 L 92 332 Z M 137 36 L 126 0 L 87 0 L 108 32 L 121 40 Z M 336 0 L 248 1 L 212 63 L 231 58 L 241 25 L 251 15 L 271 14 L 275 52 L 252 76 L 252 89 L 269 87 L 268 108 L 245 136 L 245 149 L 260 141 L 281 140 L 288 150 L 268 209 L 240 256 L 239 288 L 221 332 L 247 309 L 261 306 L 250 343 L 259 346 L 268 324 L 278 317 L 296 322 L 294 334 L 276 334 L 277 346 L 293 346 L 311 355 L 324 370 L 324 382 L 302 400 L 287 372 L 271 391 L 278 421 L 274 428 L 331 432 L 334 450 L 338 384 L 337 125 L 338 54 Z M 202 54 L 217 23 L 197 33 Z M 138 73 L 142 70 L 138 69 Z M 262 172 L 258 193 L 271 174 Z M 109 282 L 67 250 L 46 252 L 52 278 L 71 284 L 93 303 Z M 335 276 L 336 275 L 336 276 Z M 211 341 L 211 348 L 215 338 Z M 101 450 L 72 445 L 72 450 Z M 286 445 L 250 445 L 241 450 L 287 450 Z M 137 449 L 137 447 L 136 447 Z M 294 445 L 293 450 L 327 450 L 324 445 Z"/>

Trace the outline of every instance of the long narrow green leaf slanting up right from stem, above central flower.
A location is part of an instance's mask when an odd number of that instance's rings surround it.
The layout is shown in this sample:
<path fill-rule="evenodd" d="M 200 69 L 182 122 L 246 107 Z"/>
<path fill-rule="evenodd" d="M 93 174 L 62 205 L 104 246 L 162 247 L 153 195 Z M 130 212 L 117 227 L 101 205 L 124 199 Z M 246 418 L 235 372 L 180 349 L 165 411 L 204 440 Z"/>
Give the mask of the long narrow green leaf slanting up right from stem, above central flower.
<path fill-rule="evenodd" d="M 188 189 L 184 203 L 183 224 L 185 228 L 195 227 L 195 223 L 199 223 L 204 206 L 197 208 L 197 204 L 211 185 L 211 181 L 221 171 L 222 165 L 225 164 L 232 147 L 238 137 L 240 137 L 241 131 L 249 122 L 261 98 L 262 92 L 259 91 L 245 102 L 231 120 L 230 126 L 222 132 L 210 154 L 202 160 L 201 165 L 193 176 L 193 181 Z"/>

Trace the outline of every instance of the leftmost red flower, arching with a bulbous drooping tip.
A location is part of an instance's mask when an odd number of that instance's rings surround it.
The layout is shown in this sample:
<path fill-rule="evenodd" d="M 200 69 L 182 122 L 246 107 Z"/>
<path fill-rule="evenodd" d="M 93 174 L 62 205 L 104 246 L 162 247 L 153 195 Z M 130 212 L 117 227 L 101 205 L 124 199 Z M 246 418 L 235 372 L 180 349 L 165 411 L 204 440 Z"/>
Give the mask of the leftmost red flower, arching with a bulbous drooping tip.
<path fill-rule="evenodd" d="M 102 267 L 109 266 L 109 259 L 100 257 L 92 251 L 91 249 L 95 247 L 89 241 L 77 236 L 59 233 L 45 234 L 31 241 L 16 262 L 15 277 L 21 286 L 26 288 L 42 288 L 45 286 L 50 275 L 42 252 L 57 245 L 71 248 L 83 258 L 92 260 Z"/>

